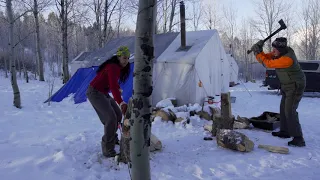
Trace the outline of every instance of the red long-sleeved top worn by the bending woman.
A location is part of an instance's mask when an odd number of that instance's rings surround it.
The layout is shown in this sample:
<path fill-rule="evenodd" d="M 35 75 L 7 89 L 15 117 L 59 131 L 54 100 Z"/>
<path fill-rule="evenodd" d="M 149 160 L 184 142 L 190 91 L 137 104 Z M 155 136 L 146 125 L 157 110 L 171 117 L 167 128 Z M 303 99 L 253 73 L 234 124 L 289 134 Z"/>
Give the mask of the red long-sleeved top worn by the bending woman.
<path fill-rule="evenodd" d="M 120 93 L 120 85 L 118 83 L 120 71 L 120 65 L 107 64 L 97 73 L 96 77 L 91 81 L 90 86 L 104 94 L 108 94 L 110 90 L 113 98 L 120 104 L 123 101 Z"/>

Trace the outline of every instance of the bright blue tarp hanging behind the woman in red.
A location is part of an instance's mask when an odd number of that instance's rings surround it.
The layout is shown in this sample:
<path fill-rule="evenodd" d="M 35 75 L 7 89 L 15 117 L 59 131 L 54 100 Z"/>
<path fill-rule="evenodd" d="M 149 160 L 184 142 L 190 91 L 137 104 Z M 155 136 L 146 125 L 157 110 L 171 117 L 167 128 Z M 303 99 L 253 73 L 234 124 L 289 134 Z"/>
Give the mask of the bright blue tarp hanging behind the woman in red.
<path fill-rule="evenodd" d="M 133 63 L 130 63 L 129 77 L 125 83 L 120 84 L 120 87 L 123 90 L 122 97 L 126 103 L 128 103 L 132 96 L 133 68 Z M 78 69 L 71 79 L 45 102 L 48 102 L 49 100 L 53 102 L 60 102 L 70 94 L 74 94 L 73 99 L 75 104 L 85 102 L 87 100 L 87 88 L 91 80 L 95 77 L 97 69 L 98 66 Z"/>

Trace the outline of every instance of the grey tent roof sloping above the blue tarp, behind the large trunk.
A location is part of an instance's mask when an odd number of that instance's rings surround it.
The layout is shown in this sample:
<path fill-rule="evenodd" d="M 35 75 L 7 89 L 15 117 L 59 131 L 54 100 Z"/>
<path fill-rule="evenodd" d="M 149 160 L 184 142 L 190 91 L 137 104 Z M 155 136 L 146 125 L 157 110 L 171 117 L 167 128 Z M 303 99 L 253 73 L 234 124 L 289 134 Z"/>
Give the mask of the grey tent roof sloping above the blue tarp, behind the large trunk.
<path fill-rule="evenodd" d="M 179 33 L 164 33 L 156 34 L 154 38 L 155 58 L 158 58 L 162 52 L 171 44 Z M 134 54 L 135 36 L 125 36 L 109 41 L 103 48 L 90 53 L 85 58 L 89 62 L 88 66 L 97 66 L 103 63 L 106 59 L 113 56 L 119 46 L 128 46 L 131 54 Z"/>

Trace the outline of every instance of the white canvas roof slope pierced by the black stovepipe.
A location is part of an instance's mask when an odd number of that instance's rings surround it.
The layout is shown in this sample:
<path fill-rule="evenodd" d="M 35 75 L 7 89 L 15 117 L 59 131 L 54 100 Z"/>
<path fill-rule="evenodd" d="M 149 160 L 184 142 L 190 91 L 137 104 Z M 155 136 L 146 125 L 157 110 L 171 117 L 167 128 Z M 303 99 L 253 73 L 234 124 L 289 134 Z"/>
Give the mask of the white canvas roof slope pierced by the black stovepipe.
<path fill-rule="evenodd" d="M 181 46 L 181 36 L 179 34 L 170 46 L 160 55 L 157 62 L 194 64 L 198 54 L 215 35 L 218 36 L 217 30 L 186 32 L 186 45 L 191 46 L 191 48 L 188 51 L 177 51 Z"/>

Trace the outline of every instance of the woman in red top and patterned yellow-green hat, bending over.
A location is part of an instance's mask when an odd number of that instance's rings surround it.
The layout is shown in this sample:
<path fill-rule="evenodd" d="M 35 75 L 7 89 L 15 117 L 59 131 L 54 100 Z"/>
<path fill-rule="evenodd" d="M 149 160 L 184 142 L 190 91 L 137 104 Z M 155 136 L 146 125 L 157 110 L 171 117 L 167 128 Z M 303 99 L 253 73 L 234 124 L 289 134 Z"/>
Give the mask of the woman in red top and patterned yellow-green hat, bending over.
<path fill-rule="evenodd" d="M 118 123 L 127 111 L 127 104 L 121 98 L 119 81 L 125 82 L 130 73 L 130 52 L 128 47 L 118 48 L 117 55 L 102 63 L 95 78 L 90 82 L 86 95 L 104 125 L 101 148 L 105 157 L 116 156 Z M 113 98 L 109 95 L 111 91 Z M 120 107 L 120 108 L 119 108 Z"/>

